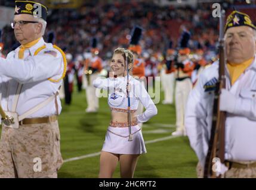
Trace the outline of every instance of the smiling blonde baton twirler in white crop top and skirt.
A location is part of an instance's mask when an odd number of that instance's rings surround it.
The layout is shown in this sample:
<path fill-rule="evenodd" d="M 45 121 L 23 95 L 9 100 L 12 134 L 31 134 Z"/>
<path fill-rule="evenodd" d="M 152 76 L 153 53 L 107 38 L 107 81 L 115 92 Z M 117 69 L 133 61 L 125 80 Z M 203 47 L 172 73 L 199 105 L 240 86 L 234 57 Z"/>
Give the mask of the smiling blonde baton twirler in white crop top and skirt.
<path fill-rule="evenodd" d="M 128 53 L 128 57 L 125 53 Z M 125 60 L 128 60 L 128 64 Z M 146 122 L 157 114 L 156 106 L 150 99 L 145 87 L 140 81 L 132 77 L 133 55 L 131 51 L 118 48 L 110 61 L 109 78 L 94 80 L 94 87 L 110 90 L 108 103 L 112 114 L 112 121 L 107 129 L 106 138 L 101 150 L 99 178 L 112 178 L 118 161 L 120 162 L 121 177 L 132 178 L 140 154 L 146 153 L 139 123 Z M 127 84 L 127 66 L 129 69 Z M 129 97 L 127 94 L 129 91 Z M 128 107 L 128 98 L 130 107 Z M 146 108 L 138 114 L 138 103 Z M 127 114 L 131 109 L 131 122 L 127 121 Z M 131 131 L 128 126 L 131 125 Z M 132 141 L 129 140 L 129 132 Z"/>

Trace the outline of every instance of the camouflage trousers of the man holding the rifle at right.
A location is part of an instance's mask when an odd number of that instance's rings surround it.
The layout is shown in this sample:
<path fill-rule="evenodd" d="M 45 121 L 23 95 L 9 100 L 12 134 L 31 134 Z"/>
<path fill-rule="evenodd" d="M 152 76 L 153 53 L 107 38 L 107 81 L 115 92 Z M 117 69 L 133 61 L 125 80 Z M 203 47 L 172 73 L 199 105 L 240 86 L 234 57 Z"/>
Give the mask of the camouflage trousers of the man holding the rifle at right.
<path fill-rule="evenodd" d="M 196 166 L 198 178 L 203 178 L 203 167 L 198 162 Z M 248 167 L 245 169 L 232 167 L 224 173 L 224 178 L 256 178 L 256 167 Z"/>

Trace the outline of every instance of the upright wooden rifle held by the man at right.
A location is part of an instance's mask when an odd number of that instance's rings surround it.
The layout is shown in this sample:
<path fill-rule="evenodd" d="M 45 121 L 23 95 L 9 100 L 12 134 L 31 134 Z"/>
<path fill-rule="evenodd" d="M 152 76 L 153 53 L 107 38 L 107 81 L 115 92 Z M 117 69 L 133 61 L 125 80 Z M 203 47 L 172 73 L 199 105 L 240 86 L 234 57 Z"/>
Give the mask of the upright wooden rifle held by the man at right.
<path fill-rule="evenodd" d="M 211 136 L 209 140 L 208 153 L 205 160 L 204 167 L 204 178 L 216 178 L 213 169 L 214 158 L 220 159 L 221 163 L 224 163 L 224 153 L 225 153 L 225 121 L 226 112 L 220 111 L 220 93 L 221 88 L 226 88 L 226 78 L 225 78 L 225 45 L 224 45 L 224 17 L 225 11 L 221 11 L 220 15 L 220 39 L 219 39 L 219 67 L 218 67 L 218 81 L 214 91 L 214 107 L 212 112 L 212 126 L 211 126 Z"/>

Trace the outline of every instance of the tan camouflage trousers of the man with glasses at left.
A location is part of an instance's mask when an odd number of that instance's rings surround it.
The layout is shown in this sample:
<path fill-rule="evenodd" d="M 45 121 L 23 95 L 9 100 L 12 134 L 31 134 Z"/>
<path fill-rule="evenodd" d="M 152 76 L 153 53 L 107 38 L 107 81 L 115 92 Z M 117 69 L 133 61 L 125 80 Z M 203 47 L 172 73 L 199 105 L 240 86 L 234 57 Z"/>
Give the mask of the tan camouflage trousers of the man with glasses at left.
<path fill-rule="evenodd" d="M 62 163 L 58 121 L 2 127 L 0 178 L 57 178 Z"/>

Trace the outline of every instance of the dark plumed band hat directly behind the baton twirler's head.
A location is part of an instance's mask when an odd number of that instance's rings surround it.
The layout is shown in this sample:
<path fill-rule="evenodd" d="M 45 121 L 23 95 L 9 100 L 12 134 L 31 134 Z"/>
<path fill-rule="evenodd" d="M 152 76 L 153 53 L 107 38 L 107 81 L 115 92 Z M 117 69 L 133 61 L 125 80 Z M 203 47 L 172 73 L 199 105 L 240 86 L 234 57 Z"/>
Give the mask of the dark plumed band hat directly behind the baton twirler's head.
<path fill-rule="evenodd" d="M 132 52 L 136 52 L 138 55 L 140 55 L 142 52 L 141 46 L 138 44 L 140 42 L 141 36 L 142 29 L 138 26 L 135 26 L 132 30 L 131 41 L 129 43 L 130 45 L 128 49 Z"/>

